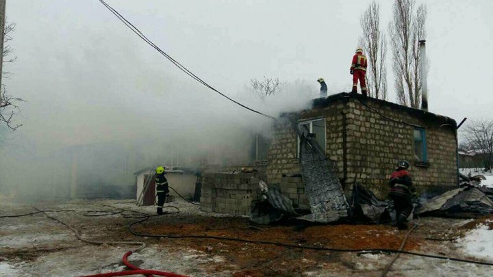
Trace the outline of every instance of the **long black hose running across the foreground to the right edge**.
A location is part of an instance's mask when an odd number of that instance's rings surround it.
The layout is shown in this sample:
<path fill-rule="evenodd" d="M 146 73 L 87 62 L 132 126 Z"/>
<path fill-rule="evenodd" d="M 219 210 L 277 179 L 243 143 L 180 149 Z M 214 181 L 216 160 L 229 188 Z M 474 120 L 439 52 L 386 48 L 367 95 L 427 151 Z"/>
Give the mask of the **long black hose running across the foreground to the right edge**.
<path fill-rule="evenodd" d="M 387 249 L 387 248 L 372 248 L 372 249 L 343 249 L 343 248 L 326 248 L 326 247 L 318 247 L 318 246 L 304 246 L 304 245 L 299 245 L 299 244 L 289 244 L 289 243 L 281 243 L 281 242 L 276 242 L 276 241 L 257 241 L 257 240 L 251 240 L 251 239 L 239 239 L 236 237 L 218 237 L 218 236 L 207 236 L 207 235 L 154 235 L 154 234 L 147 234 L 147 233 L 137 233 L 135 230 L 132 229 L 132 226 L 135 224 L 142 223 L 146 220 L 149 220 L 149 217 L 143 218 L 141 220 L 137 220 L 136 222 L 131 222 L 130 224 L 127 225 L 127 228 L 129 232 L 132 235 L 136 235 L 138 237 L 164 237 L 166 239 L 187 239 L 187 238 L 192 238 L 192 239 L 217 239 L 217 240 L 223 240 L 223 241 L 239 241 L 239 242 L 246 242 L 246 243 L 258 243 L 258 244 L 267 244 L 267 245 L 273 245 L 273 246 L 282 246 L 282 247 L 287 247 L 287 248 L 298 248 L 298 249 L 309 249 L 309 250 L 318 250 L 318 251 L 331 251 L 331 252 L 360 252 L 364 254 L 375 254 L 375 253 L 400 253 L 400 254 L 407 254 L 407 255 L 412 255 L 412 256 L 422 256 L 425 258 L 431 258 L 431 259 L 442 259 L 442 260 L 450 260 L 450 261 L 458 261 L 462 263 L 474 263 L 477 265 L 491 265 L 493 266 L 493 263 L 488 263 L 488 262 L 481 262 L 481 261 L 472 261 L 472 260 L 466 260 L 466 259 L 458 259 L 458 258 L 452 258 L 448 256 L 438 256 L 438 255 L 431 255 L 431 254 L 423 254 L 423 253 L 418 253 L 418 252 L 409 252 L 409 251 L 404 251 L 404 250 L 394 250 L 394 249 Z"/>

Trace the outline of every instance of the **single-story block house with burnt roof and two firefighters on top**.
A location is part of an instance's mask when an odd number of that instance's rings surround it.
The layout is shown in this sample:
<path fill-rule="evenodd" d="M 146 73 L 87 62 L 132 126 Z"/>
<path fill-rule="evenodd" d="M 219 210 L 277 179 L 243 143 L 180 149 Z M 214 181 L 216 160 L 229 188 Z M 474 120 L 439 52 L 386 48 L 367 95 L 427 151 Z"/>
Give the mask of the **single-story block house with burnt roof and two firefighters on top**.
<path fill-rule="evenodd" d="M 275 123 L 267 159 L 268 184 L 299 176 L 299 137 L 313 133 L 333 161 L 346 198 L 357 181 L 385 198 L 397 161 L 411 163 L 418 192 L 458 185 L 457 122 L 446 116 L 342 92 L 315 99 L 312 109 L 286 113 Z"/>

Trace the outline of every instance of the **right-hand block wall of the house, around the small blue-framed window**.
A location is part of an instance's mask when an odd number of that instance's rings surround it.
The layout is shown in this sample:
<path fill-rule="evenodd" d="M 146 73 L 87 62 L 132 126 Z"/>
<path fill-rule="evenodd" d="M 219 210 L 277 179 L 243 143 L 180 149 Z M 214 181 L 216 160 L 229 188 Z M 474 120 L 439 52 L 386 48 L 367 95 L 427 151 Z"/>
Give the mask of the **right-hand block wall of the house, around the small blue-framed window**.
<path fill-rule="evenodd" d="M 347 103 L 347 160 L 348 179 L 355 179 L 381 198 L 388 193 L 387 175 L 391 174 L 399 159 L 411 163 L 409 172 L 418 192 L 443 191 L 457 185 L 455 130 L 451 126 L 430 118 L 417 118 L 405 109 L 393 109 L 388 105 L 365 101 L 385 117 L 416 124 L 425 129 L 429 168 L 415 166 L 414 127 L 393 122 L 379 116 L 357 99 Z M 420 111 L 415 111 L 420 112 Z"/>

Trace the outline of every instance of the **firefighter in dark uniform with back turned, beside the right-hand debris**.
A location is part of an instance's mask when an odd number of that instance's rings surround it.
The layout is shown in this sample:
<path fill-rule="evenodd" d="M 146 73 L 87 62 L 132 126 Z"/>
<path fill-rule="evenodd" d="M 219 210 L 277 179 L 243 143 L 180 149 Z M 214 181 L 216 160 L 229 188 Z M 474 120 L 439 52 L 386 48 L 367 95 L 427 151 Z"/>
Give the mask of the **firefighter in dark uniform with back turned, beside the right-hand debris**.
<path fill-rule="evenodd" d="M 409 161 L 399 161 L 396 170 L 390 175 L 389 182 L 389 196 L 394 200 L 399 230 L 407 229 L 407 217 L 411 215 L 413 210 L 412 194 L 416 192 L 407 168 L 409 168 Z"/>

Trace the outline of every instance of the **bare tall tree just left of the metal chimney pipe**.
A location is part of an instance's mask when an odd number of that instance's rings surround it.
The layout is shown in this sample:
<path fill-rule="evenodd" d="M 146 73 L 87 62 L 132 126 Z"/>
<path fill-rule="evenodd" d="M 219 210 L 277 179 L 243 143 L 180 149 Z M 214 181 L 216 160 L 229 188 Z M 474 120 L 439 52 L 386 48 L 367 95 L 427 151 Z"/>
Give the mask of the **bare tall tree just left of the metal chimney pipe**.
<path fill-rule="evenodd" d="M 424 4 L 419 5 L 414 13 L 414 5 L 415 0 L 395 0 L 393 18 L 389 23 L 388 31 L 394 58 L 392 70 L 397 102 L 419 108 L 421 76 L 418 41 L 426 38 L 427 8 Z"/>

